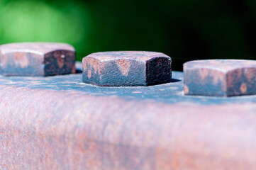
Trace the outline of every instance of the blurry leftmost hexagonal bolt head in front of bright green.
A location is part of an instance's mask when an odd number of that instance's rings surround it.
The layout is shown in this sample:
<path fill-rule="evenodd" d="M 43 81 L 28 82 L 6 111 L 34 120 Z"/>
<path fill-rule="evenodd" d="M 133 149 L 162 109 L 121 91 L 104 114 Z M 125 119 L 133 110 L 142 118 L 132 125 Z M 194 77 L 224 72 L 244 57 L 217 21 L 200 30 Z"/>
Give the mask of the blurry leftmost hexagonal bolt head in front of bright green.
<path fill-rule="evenodd" d="M 21 42 L 0 46 L 0 74 L 52 76 L 75 72 L 74 47 L 64 43 Z"/>

